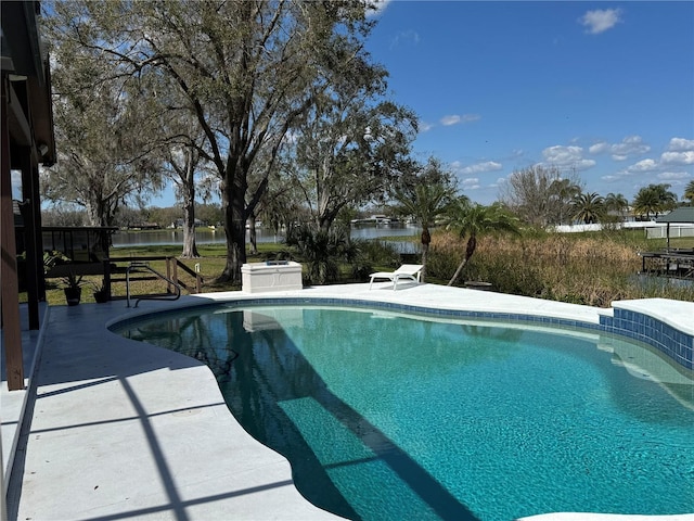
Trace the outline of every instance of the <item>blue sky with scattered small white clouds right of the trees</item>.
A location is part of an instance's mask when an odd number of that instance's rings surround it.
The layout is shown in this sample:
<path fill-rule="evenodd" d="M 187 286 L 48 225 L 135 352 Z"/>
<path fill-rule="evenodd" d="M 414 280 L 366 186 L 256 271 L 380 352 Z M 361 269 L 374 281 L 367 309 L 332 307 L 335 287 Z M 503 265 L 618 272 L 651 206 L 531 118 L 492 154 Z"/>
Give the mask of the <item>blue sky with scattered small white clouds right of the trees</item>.
<path fill-rule="evenodd" d="M 376 17 L 367 48 L 420 117 L 415 155 L 474 201 L 536 164 L 629 201 L 694 179 L 694 2 L 390 0 Z"/>

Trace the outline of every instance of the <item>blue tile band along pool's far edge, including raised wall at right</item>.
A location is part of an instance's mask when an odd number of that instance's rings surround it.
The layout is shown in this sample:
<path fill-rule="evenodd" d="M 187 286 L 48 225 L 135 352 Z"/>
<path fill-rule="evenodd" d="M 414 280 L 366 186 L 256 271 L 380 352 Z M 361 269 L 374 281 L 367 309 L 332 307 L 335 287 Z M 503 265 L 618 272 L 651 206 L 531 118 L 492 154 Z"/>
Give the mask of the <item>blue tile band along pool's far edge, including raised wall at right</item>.
<path fill-rule="evenodd" d="M 620 336 L 627 336 L 632 340 L 644 342 L 679 365 L 686 369 L 694 369 L 694 336 L 684 333 L 656 318 L 637 312 L 626 309 L 614 309 L 614 316 L 600 316 L 600 323 L 587 322 L 583 320 L 570 320 L 566 318 L 544 317 L 537 315 L 527 315 L 519 313 L 491 313 L 491 312 L 471 312 L 463 309 L 442 309 L 424 306 L 413 306 L 408 304 L 398 304 L 391 302 L 364 301 L 357 298 L 331 298 L 331 297 L 253 297 L 253 298 L 233 298 L 229 301 L 217 301 L 215 303 L 194 304 L 183 307 L 175 307 L 163 310 L 155 310 L 136 317 L 126 318 L 112 325 L 108 329 L 127 327 L 130 323 L 138 322 L 143 319 L 177 314 L 184 308 L 218 308 L 218 307 L 237 307 L 254 305 L 337 305 L 354 306 L 377 309 L 389 309 L 396 312 L 408 312 L 427 316 L 450 317 L 450 318 L 477 318 L 477 319 L 496 319 L 509 321 L 522 321 L 537 323 L 542 326 L 558 326 L 571 329 L 593 330 L 597 332 L 612 333 Z"/>

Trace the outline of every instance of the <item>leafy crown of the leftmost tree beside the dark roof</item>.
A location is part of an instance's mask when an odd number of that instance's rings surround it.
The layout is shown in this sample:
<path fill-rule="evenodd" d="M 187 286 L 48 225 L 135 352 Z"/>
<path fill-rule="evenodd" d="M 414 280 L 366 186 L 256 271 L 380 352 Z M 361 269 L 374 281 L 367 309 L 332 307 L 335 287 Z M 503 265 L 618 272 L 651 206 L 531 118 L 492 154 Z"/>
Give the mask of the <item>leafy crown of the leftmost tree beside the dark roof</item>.
<path fill-rule="evenodd" d="M 160 187 L 152 139 L 160 107 L 140 96 L 138 78 L 118 76 L 101 52 L 64 38 L 65 30 L 49 25 L 59 155 L 42 171 L 42 195 L 86 208 L 91 226 L 113 226 L 124 204 L 139 205 Z"/>

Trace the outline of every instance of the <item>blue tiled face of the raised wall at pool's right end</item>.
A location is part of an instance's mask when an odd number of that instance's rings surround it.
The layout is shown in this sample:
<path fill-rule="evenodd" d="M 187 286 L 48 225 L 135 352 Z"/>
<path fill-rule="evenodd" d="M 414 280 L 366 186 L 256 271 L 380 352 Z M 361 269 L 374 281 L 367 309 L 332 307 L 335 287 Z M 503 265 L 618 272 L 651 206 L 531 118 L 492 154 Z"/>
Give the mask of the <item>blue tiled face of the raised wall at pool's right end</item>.
<path fill-rule="evenodd" d="M 694 317 L 693 317 L 694 318 Z M 644 342 L 687 369 L 694 369 L 694 335 L 657 318 L 628 309 L 614 309 L 614 316 L 601 316 L 608 333 Z"/>

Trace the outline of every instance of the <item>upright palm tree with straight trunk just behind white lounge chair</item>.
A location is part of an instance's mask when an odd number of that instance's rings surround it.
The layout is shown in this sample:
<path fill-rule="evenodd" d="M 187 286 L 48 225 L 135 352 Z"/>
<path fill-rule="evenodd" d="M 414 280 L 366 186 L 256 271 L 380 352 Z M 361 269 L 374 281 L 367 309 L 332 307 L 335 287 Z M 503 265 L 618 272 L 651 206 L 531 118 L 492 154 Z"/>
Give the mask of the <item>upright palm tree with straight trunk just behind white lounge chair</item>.
<path fill-rule="evenodd" d="M 453 198 L 454 190 L 444 182 L 419 183 L 414 190 L 397 190 L 395 199 L 400 203 L 398 212 L 415 218 L 422 225 L 422 279 L 426 275 L 426 257 L 432 242 L 429 227 L 440 216 Z M 467 198 L 465 198 L 467 199 Z"/>

